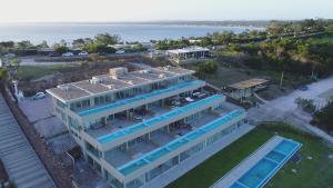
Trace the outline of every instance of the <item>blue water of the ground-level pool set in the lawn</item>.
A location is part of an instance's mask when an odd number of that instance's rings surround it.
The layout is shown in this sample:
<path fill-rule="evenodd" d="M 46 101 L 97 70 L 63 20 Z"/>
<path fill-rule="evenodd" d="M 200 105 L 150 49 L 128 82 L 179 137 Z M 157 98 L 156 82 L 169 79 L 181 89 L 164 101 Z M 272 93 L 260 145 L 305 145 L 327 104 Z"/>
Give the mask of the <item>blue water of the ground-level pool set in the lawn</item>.
<path fill-rule="evenodd" d="M 231 188 L 260 188 L 289 160 L 302 145 L 284 139 L 246 171 Z"/>

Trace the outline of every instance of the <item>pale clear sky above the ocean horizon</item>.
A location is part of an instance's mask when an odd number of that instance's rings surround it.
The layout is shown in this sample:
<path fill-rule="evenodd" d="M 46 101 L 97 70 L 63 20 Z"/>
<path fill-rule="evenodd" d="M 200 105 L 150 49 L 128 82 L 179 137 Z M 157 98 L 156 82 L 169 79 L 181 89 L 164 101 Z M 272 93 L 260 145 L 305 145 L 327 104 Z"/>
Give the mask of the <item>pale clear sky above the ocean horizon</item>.
<path fill-rule="evenodd" d="M 333 18 L 333 0 L 0 0 L 2 22 Z"/>

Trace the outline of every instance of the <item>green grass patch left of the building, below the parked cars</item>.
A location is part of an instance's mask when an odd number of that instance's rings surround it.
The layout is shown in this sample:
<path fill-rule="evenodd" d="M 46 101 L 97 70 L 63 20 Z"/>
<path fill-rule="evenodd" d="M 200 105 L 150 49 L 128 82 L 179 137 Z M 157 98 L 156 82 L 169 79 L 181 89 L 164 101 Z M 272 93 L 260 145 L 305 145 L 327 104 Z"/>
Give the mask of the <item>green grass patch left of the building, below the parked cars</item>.
<path fill-rule="evenodd" d="M 68 68 L 69 66 L 20 66 L 17 78 L 19 80 L 30 81 Z"/>

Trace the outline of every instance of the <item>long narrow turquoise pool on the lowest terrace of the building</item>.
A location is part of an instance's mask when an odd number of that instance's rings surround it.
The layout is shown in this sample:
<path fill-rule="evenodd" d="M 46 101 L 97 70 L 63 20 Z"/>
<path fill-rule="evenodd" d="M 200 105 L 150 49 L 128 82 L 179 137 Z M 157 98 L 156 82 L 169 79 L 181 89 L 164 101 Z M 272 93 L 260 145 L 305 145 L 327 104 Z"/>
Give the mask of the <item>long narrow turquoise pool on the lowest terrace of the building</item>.
<path fill-rule="evenodd" d="M 242 110 L 234 110 L 223 117 L 220 117 L 219 119 L 194 130 L 191 131 L 169 144 L 165 146 L 158 148 L 151 152 L 145 154 L 144 156 L 140 157 L 139 159 L 132 160 L 121 167 L 118 168 L 118 170 L 123 174 L 124 176 L 142 168 L 143 166 L 148 165 L 149 162 L 152 162 L 154 160 L 158 160 L 159 158 L 172 152 L 173 150 L 186 145 L 188 142 L 200 138 L 202 135 L 208 133 L 209 131 L 212 131 L 213 129 L 225 125 L 226 122 L 233 120 L 234 118 L 241 116 L 244 113 Z M 144 161 L 145 164 L 142 164 Z M 139 162 L 139 164 L 138 164 Z"/>

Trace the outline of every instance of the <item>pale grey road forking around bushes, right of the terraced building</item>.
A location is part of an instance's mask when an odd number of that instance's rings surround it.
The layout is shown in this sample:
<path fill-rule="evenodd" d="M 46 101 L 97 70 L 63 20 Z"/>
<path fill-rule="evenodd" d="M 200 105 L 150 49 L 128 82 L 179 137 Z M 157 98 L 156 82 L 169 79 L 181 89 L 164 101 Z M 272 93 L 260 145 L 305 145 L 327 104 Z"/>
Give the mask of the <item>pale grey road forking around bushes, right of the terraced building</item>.
<path fill-rule="evenodd" d="M 332 91 L 332 92 L 331 92 Z M 249 119 L 253 122 L 260 121 L 284 121 L 297 128 L 322 137 L 333 144 L 333 137 L 310 125 L 311 115 L 297 108 L 295 99 L 297 97 L 313 99 L 316 105 L 323 107 L 327 98 L 333 96 L 333 77 L 309 85 L 307 91 L 293 91 L 292 93 L 280 97 L 272 101 L 266 101 L 259 108 L 253 107 L 248 110 Z"/>

